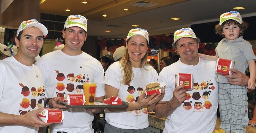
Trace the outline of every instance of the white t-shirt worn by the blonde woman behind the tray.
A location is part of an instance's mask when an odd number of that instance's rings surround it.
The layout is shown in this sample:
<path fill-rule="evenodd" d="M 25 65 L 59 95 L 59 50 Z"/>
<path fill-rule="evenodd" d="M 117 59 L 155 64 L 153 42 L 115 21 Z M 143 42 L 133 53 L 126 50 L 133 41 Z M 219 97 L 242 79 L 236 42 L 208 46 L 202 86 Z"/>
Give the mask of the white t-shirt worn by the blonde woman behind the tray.
<path fill-rule="evenodd" d="M 121 83 L 123 70 L 119 62 L 115 62 L 108 67 L 104 83 L 119 89 L 117 97 L 121 98 L 122 101 L 135 102 L 136 97 L 142 94 L 148 83 L 157 81 L 156 70 L 152 66 L 145 66 L 145 68 L 147 70 L 144 68 L 132 68 L 133 79 L 128 86 Z M 147 107 L 120 113 L 105 111 L 105 114 L 105 120 L 117 128 L 143 129 L 149 125 Z"/>

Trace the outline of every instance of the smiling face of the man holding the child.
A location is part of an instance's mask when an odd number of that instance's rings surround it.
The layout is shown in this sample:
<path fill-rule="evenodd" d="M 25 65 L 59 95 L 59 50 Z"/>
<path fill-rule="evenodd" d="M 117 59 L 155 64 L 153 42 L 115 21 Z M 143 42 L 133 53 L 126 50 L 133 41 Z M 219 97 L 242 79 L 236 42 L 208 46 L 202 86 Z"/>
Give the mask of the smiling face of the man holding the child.
<path fill-rule="evenodd" d="M 195 39 L 184 37 L 177 41 L 176 51 L 180 55 L 180 60 L 187 65 L 197 65 L 199 62 L 198 44 Z"/>

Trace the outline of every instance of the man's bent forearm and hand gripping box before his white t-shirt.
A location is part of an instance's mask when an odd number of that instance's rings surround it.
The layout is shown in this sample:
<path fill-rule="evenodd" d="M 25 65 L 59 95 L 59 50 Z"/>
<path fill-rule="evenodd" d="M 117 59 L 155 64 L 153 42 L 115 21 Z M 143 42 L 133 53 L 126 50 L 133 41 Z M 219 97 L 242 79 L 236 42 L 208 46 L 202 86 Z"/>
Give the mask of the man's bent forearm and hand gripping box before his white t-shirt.
<path fill-rule="evenodd" d="M 187 97 L 187 91 L 183 85 L 177 86 L 173 91 L 173 97 L 170 101 L 159 101 L 155 107 L 156 116 L 159 118 L 167 117 L 179 107 Z"/>

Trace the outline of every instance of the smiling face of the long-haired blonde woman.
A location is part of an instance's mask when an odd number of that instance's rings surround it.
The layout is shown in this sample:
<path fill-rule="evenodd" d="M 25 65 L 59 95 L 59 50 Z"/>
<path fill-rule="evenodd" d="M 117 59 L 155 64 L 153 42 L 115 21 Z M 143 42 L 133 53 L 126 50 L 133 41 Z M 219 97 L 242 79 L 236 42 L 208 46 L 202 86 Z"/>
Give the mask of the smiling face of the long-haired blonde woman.
<path fill-rule="evenodd" d="M 126 44 L 126 48 L 128 49 L 129 60 L 132 66 L 140 65 L 141 59 L 145 56 L 148 49 L 147 40 L 140 35 L 134 35 Z"/>

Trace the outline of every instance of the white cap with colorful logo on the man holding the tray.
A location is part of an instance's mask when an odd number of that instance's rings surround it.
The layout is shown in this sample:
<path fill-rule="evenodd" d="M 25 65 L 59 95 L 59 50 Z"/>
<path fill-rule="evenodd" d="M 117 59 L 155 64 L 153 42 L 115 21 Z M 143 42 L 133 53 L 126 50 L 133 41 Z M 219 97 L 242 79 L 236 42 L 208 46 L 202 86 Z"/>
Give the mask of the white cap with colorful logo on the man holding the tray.
<path fill-rule="evenodd" d="M 80 27 L 84 29 L 87 32 L 87 20 L 84 16 L 82 15 L 70 15 L 68 16 L 64 28 L 69 28 L 69 27 Z"/>

